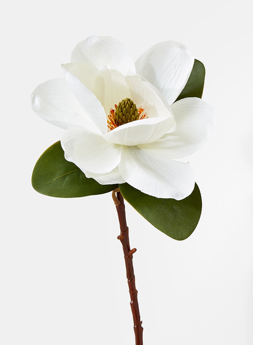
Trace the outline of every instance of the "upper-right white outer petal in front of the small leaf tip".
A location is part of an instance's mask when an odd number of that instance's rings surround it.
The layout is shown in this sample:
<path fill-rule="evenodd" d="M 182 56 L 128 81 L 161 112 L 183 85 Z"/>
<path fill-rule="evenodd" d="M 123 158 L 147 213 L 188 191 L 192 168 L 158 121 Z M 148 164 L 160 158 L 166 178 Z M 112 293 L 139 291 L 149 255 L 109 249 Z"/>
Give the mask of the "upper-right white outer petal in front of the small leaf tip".
<path fill-rule="evenodd" d="M 171 105 L 185 87 L 194 56 L 182 43 L 157 43 L 135 63 L 136 73 L 154 85 Z"/>

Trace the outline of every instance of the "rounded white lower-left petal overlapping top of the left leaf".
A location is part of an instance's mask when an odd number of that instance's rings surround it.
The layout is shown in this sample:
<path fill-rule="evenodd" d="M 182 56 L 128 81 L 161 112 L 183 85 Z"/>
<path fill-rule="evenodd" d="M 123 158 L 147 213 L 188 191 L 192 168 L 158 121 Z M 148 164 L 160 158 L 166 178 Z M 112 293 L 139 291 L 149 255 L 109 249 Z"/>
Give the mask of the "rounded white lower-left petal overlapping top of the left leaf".
<path fill-rule="evenodd" d="M 61 138 L 65 158 L 82 171 L 104 174 L 120 162 L 122 146 L 110 144 L 101 135 L 81 126 L 72 126 Z"/>

